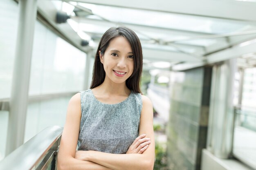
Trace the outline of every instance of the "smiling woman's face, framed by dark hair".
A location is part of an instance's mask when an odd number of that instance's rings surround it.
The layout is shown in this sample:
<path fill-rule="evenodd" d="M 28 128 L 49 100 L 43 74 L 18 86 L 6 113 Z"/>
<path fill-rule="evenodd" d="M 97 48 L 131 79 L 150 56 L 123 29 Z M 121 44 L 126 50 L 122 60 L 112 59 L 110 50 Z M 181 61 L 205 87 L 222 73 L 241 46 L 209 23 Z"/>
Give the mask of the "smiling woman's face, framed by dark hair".
<path fill-rule="evenodd" d="M 133 53 L 130 43 L 123 36 L 110 41 L 104 55 L 99 51 L 106 78 L 115 83 L 123 83 L 133 72 Z"/>

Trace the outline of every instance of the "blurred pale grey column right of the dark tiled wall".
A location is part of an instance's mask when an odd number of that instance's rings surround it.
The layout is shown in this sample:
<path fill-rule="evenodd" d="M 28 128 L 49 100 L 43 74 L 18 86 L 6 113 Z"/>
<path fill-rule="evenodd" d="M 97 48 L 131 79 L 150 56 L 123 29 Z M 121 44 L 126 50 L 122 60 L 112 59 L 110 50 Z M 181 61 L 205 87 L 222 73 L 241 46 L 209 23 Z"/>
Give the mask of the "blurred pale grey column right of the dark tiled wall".
<path fill-rule="evenodd" d="M 235 72 L 236 59 L 213 69 L 207 149 L 222 159 L 229 158 L 232 152 Z"/>

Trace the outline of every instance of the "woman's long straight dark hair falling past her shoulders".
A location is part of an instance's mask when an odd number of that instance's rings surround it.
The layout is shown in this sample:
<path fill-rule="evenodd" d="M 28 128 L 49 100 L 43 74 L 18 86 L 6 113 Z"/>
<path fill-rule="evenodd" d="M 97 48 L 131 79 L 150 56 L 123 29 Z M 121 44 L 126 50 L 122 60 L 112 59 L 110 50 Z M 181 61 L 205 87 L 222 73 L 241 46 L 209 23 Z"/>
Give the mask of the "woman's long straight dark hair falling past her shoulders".
<path fill-rule="evenodd" d="M 141 93 L 140 87 L 139 87 L 139 82 L 140 82 L 141 73 L 142 73 L 141 44 L 135 32 L 133 32 L 132 30 L 124 26 L 120 26 L 117 28 L 111 27 L 110 29 L 108 29 L 108 31 L 106 31 L 106 33 L 103 34 L 95 55 L 93 74 L 92 74 L 92 84 L 90 88 L 95 88 L 101 85 L 104 82 L 105 75 L 106 75 L 103 68 L 103 64 L 101 64 L 101 61 L 99 58 L 99 51 L 101 51 L 101 54 L 104 55 L 110 41 L 119 36 L 123 36 L 128 40 L 128 42 L 130 43 L 130 46 L 132 47 L 132 53 L 134 56 L 134 60 L 133 60 L 134 69 L 133 69 L 132 75 L 126 80 L 126 86 L 134 92 Z"/>

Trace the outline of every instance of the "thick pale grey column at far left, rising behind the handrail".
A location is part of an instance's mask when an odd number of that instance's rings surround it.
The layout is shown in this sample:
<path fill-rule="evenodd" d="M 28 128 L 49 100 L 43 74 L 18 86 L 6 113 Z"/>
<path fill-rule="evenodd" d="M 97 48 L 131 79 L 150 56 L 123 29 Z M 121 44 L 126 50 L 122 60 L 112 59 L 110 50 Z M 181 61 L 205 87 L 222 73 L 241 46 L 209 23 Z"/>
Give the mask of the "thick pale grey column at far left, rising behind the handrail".
<path fill-rule="evenodd" d="M 19 0 L 19 20 L 11 87 L 6 155 L 24 142 L 37 0 Z"/>

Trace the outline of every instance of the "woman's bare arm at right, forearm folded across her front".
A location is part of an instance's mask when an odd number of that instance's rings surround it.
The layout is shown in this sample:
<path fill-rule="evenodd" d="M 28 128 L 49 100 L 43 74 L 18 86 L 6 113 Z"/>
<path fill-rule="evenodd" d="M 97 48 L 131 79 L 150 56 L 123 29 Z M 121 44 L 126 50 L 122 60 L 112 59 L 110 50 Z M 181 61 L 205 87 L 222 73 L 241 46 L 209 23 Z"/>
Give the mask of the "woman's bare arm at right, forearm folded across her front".
<path fill-rule="evenodd" d="M 153 132 L 153 106 L 143 96 L 143 106 L 139 124 L 139 134 L 146 134 L 151 143 L 142 154 L 111 154 L 98 151 L 81 151 L 83 160 L 92 161 L 113 170 L 153 170 L 155 158 L 155 140 Z"/>

